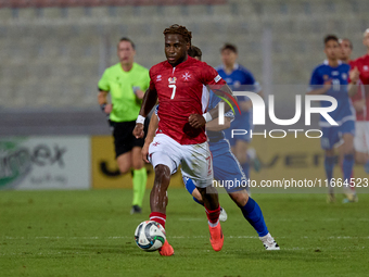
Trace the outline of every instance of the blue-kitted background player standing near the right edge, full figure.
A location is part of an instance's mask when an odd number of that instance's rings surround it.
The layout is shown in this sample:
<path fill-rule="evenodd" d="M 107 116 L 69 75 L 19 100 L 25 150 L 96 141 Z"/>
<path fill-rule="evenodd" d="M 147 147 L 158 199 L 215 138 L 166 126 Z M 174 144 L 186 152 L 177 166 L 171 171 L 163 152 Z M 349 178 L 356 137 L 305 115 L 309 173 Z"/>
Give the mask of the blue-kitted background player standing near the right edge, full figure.
<path fill-rule="evenodd" d="M 325 169 L 327 179 L 329 180 L 328 202 L 334 202 L 334 190 L 331 184 L 334 168 L 334 146 L 343 141 L 344 158 L 343 180 L 344 192 L 347 201 L 355 201 L 356 193 L 349 186 L 351 176 L 354 166 L 354 136 L 355 136 L 355 115 L 351 104 L 348 93 L 355 93 L 352 89 L 347 89 L 349 65 L 340 61 L 339 39 L 329 35 L 325 38 L 325 53 L 327 60 L 323 64 L 318 65 L 310 78 L 310 87 L 307 95 L 327 95 L 333 97 L 338 101 L 338 108 L 330 112 L 329 115 L 339 124 L 330 125 L 330 123 L 320 116 L 319 125 L 321 127 L 321 148 L 325 150 Z M 328 101 L 320 101 L 321 106 L 330 106 Z"/>

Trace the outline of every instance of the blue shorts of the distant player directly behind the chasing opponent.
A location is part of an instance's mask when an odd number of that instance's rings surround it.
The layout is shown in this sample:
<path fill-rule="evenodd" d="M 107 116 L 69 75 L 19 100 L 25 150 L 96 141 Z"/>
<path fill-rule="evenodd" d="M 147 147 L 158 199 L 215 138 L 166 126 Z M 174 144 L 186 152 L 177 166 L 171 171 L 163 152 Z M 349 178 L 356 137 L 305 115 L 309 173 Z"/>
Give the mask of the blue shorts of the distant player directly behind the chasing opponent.
<path fill-rule="evenodd" d="M 245 135 L 233 135 L 232 138 L 232 129 L 246 130 L 247 133 Z M 226 135 L 226 138 L 229 140 L 230 146 L 234 147 L 237 140 L 251 142 L 250 133 L 253 129 L 253 113 L 246 112 L 243 115 L 238 115 L 236 119 L 231 123 L 231 126 L 228 129 L 225 129 L 224 133 Z"/>

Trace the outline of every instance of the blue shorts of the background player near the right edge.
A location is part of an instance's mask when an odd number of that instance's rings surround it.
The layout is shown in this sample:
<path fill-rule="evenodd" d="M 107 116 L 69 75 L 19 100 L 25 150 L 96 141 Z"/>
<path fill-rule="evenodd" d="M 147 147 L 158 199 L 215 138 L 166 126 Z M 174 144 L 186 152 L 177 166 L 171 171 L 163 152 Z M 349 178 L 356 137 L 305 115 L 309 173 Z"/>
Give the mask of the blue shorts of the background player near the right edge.
<path fill-rule="evenodd" d="M 348 133 L 355 136 L 355 122 L 347 121 L 340 126 L 321 127 L 321 148 L 325 150 L 333 149 L 334 144 L 341 141 L 343 134 Z"/>

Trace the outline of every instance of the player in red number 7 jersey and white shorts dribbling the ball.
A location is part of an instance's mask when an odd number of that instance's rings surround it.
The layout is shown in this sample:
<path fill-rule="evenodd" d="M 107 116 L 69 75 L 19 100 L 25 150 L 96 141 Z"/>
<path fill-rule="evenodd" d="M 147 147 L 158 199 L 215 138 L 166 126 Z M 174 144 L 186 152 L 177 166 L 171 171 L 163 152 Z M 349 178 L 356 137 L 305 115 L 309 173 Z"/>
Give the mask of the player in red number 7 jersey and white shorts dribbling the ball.
<path fill-rule="evenodd" d="M 220 205 L 217 190 L 212 187 L 213 162 L 205 134 L 206 122 L 216 118 L 218 111 L 206 112 L 208 92 L 203 93 L 203 85 L 217 89 L 227 99 L 232 91 L 212 66 L 188 56 L 192 35 L 184 26 L 171 25 L 164 30 L 164 36 L 167 60 L 150 70 L 150 87 L 133 130 L 137 138 L 143 137 L 144 117 L 158 100 L 161 121 L 149 148 L 149 160 L 155 171 L 150 194 L 150 219 L 165 228 L 167 188 L 171 174 L 180 164 L 182 176 L 191 178 L 203 197 L 211 243 L 215 251 L 220 251 L 224 243 Z M 230 109 L 226 105 L 225 110 Z M 167 240 L 158 252 L 161 255 L 174 254 Z"/>

